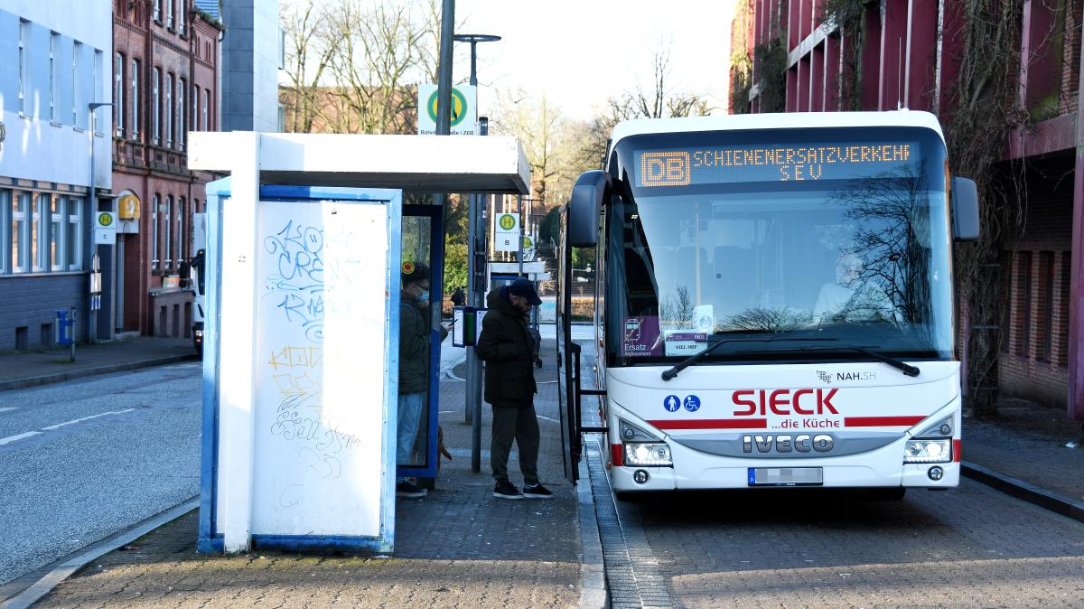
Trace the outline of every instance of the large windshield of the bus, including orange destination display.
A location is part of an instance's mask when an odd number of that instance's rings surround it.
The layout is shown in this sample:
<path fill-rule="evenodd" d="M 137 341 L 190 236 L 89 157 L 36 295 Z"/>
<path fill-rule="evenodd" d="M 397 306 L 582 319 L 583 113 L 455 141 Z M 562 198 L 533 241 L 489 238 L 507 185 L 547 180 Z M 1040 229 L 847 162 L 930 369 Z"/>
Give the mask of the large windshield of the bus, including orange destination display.
<path fill-rule="evenodd" d="M 944 145 L 925 129 L 635 135 L 606 211 L 609 365 L 952 357 Z M 801 338 L 822 348 L 802 350 Z M 797 340 L 791 340 L 797 339 Z"/>

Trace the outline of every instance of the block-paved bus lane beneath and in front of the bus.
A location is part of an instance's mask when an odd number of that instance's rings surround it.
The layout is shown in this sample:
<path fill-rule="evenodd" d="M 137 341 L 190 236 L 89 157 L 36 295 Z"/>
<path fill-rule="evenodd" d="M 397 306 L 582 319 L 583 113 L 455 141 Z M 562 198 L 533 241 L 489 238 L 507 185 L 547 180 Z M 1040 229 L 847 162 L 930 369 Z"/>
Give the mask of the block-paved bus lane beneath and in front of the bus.
<path fill-rule="evenodd" d="M 659 581 L 674 607 L 1084 599 L 1084 523 L 971 480 L 901 501 L 769 490 L 649 495 L 617 507 L 624 539 L 641 542 L 629 548 L 636 579 Z"/>

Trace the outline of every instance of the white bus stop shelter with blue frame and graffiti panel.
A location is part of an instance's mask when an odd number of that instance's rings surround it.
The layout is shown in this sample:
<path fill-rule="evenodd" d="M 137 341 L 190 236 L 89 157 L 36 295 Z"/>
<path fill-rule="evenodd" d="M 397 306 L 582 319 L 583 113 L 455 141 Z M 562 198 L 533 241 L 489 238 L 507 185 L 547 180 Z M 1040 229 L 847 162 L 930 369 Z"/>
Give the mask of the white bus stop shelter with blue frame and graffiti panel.
<path fill-rule="evenodd" d="M 393 549 L 402 192 L 527 193 L 522 148 L 194 132 L 189 167 L 230 176 L 207 198 L 199 549 Z"/>

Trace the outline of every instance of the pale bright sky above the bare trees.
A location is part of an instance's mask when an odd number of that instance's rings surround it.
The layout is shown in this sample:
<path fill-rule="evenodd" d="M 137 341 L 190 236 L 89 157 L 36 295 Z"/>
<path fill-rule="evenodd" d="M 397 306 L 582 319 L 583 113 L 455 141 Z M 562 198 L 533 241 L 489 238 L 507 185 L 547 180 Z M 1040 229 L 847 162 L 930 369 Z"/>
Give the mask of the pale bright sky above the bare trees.
<path fill-rule="evenodd" d="M 281 0 L 284 4 L 302 0 Z M 318 0 L 327 1 L 327 0 Z M 425 0 L 403 0 L 406 2 Z M 421 4 L 420 4 L 421 5 Z M 586 119 L 608 96 L 651 90 L 651 61 L 669 48 L 668 89 L 709 95 L 725 112 L 734 0 L 456 0 L 457 34 L 494 34 L 478 46 L 478 105 L 499 91 L 544 91 L 569 118 Z M 470 73 L 456 43 L 454 80 Z"/>

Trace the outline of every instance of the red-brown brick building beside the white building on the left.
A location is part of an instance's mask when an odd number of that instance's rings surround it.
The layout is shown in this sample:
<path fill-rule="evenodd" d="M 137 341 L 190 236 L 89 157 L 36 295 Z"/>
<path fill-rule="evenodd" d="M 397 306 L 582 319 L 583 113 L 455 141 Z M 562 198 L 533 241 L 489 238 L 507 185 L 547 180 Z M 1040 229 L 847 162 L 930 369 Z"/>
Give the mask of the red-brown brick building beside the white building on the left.
<path fill-rule="evenodd" d="M 190 336 L 178 273 L 214 177 L 188 169 L 186 134 L 218 129 L 222 30 L 193 0 L 113 2 L 118 331 Z"/>

